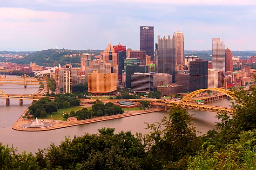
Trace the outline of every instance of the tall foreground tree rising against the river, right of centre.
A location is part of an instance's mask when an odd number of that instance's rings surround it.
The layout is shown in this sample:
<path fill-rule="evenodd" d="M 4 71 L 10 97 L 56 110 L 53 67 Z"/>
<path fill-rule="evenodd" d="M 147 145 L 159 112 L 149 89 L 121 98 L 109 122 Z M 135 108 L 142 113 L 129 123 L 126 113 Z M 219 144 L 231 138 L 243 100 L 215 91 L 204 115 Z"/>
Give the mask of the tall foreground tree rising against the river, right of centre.
<path fill-rule="evenodd" d="M 173 107 L 169 117 L 163 118 L 161 123 L 147 124 L 152 131 L 146 135 L 145 141 L 149 146 L 149 155 L 159 161 L 156 163 L 168 164 L 170 168 L 171 164 L 196 154 L 201 140 L 196 137 L 191 121 L 192 116 L 185 108 Z"/>

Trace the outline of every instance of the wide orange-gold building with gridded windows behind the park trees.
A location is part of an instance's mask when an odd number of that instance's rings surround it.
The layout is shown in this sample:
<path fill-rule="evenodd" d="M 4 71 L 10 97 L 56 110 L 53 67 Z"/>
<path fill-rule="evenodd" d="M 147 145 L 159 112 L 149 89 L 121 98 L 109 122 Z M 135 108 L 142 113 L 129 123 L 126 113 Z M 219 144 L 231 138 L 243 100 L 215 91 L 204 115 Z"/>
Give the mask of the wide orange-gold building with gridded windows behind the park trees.
<path fill-rule="evenodd" d="M 88 92 L 93 94 L 109 94 L 116 90 L 115 73 L 99 73 L 94 71 L 88 74 Z"/>

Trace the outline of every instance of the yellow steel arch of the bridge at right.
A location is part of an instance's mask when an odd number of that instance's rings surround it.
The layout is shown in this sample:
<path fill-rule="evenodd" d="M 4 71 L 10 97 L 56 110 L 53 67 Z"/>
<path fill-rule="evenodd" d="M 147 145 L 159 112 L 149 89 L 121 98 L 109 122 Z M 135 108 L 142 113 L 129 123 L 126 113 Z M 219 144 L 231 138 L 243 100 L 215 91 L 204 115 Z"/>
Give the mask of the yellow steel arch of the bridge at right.
<path fill-rule="evenodd" d="M 178 106 L 180 106 L 183 102 L 189 102 L 191 98 L 194 98 L 197 94 L 201 92 L 208 92 L 208 91 L 216 91 L 216 92 L 221 92 L 222 94 L 225 94 L 229 96 L 231 99 L 234 97 L 232 96 L 233 92 L 230 92 L 229 90 L 226 89 L 219 89 L 219 88 L 208 88 L 208 89 L 199 89 L 194 92 L 189 93 L 187 96 L 182 98 L 180 102 L 178 103 Z"/>

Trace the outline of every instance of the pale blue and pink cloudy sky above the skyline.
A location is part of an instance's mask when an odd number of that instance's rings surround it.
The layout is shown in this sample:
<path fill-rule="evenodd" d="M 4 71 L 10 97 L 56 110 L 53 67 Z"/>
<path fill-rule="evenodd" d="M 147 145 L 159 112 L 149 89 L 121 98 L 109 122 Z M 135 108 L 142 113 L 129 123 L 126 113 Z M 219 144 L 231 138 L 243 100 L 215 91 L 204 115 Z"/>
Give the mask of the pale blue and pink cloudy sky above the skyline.
<path fill-rule="evenodd" d="M 139 50 L 140 26 L 154 41 L 175 31 L 185 50 L 256 50 L 256 0 L 0 0 L 0 51 L 49 48 Z"/>

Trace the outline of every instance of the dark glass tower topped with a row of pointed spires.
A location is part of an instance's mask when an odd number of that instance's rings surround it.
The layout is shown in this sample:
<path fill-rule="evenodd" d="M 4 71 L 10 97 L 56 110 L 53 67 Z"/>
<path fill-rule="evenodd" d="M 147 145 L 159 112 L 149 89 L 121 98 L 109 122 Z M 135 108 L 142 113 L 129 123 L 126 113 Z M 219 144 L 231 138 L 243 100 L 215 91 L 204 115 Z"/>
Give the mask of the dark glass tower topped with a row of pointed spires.
<path fill-rule="evenodd" d="M 173 82 L 175 82 L 175 43 L 174 39 L 168 39 L 163 36 L 157 37 L 157 48 L 155 49 L 155 71 L 157 73 L 168 73 L 172 75 Z"/>

